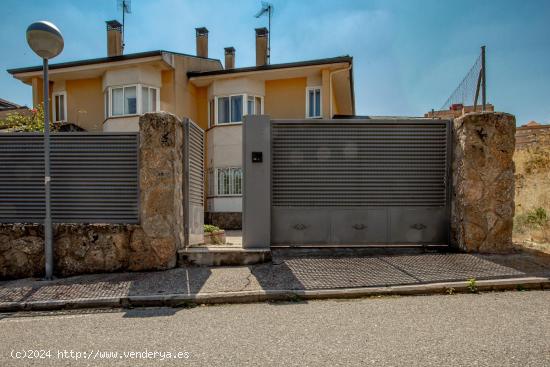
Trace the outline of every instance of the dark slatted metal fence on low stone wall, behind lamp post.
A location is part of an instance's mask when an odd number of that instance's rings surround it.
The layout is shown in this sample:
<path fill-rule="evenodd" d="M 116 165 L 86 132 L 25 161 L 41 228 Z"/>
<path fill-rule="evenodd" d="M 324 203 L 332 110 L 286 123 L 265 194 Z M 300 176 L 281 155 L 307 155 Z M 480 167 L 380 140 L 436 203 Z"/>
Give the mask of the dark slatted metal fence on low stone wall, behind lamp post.
<path fill-rule="evenodd" d="M 0 134 L 0 222 L 44 218 L 43 135 Z M 138 223 L 138 135 L 51 136 L 52 218 L 64 223 Z"/>

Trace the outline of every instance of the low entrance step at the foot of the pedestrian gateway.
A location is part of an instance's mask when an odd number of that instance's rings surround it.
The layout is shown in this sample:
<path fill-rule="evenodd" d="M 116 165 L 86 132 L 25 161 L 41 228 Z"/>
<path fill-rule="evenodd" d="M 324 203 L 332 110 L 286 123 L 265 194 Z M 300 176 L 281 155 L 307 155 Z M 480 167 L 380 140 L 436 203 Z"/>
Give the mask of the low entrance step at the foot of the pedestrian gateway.
<path fill-rule="evenodd" d="M 271 261 L 271 250 L 236 247 L 190 247 L 178 251 L 178 265 L 227 266 L 253 265 Z"/>

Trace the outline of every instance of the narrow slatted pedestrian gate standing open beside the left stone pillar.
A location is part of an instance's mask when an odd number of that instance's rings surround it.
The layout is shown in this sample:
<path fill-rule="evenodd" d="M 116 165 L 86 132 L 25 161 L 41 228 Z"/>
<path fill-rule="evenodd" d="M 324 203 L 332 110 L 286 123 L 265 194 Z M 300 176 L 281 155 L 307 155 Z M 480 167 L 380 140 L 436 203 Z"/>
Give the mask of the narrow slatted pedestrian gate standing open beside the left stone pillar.
<path fill-rule="evenodd" d="M 188 247 L 204 242 L 204 130 L 189 119 L 183 124 L 184 232 Z"/>

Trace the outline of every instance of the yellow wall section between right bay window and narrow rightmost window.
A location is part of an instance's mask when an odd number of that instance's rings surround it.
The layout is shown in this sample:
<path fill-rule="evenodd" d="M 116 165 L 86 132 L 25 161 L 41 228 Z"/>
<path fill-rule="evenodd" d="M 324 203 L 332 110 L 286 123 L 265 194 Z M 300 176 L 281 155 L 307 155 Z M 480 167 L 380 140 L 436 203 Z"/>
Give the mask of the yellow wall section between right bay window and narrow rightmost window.
<path fill-rule="evenodd" d="M 307 78 L 265 82 L 264 112 L 275 119 L 304 118 Z"/>

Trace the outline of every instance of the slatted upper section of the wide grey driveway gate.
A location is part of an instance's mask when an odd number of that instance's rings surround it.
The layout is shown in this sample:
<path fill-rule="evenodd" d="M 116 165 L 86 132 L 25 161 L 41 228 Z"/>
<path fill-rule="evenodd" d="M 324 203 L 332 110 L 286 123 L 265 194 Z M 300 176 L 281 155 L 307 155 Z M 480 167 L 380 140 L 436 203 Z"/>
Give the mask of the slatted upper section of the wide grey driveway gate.
<path fill-rule="evenodd" d="M 278 207 L 444 207 L 445 121 L 272 122 Z"/>

